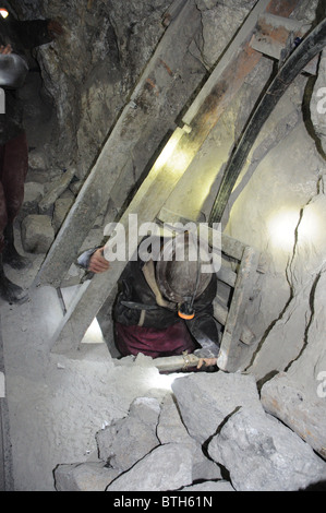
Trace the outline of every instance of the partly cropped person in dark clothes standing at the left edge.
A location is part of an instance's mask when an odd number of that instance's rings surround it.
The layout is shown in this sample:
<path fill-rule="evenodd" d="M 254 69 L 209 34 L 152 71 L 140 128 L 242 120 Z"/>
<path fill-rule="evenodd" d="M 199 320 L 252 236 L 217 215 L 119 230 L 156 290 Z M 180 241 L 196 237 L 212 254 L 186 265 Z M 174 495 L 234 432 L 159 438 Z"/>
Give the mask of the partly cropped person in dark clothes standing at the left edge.
<path fill-rule="evenodd" d="M 17 21 L 7 5 L 0 9 L 0 87 L 4 93 L 4 111 L 0 114 L 0 297 L 9 302 L 24 297 L 23 289 L 5 276 L 3 264 L 17 270 L 26 265 L 15 249 L 13 230 L 28 170 L 28 134 L 19 97 L 28 72 L 26 51 L 62 33 L 55 20 Z"/>

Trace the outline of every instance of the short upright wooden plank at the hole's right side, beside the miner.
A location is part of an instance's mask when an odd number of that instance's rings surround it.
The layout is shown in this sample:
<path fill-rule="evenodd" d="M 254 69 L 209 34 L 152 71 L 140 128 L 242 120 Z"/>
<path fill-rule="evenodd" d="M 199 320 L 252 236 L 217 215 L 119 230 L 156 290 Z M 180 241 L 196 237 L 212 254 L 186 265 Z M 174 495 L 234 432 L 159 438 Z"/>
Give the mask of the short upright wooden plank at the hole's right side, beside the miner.
<path fill-rule="evenodd" d="M 231 363 L 229 361 L 230 353 L 234 344 L 238 344 L 241 337 L 245 306 L 252 291 L 253 279 L 256 274 L 257 265 L 258 253 L 254 248 L 246 247 L 238 272 L 234 294 L 225 325 L 220 354 L 217 362 L 218 367 L 222 370 L 228 370 L 230 372 L 237 370 L 237 363 Z"/>

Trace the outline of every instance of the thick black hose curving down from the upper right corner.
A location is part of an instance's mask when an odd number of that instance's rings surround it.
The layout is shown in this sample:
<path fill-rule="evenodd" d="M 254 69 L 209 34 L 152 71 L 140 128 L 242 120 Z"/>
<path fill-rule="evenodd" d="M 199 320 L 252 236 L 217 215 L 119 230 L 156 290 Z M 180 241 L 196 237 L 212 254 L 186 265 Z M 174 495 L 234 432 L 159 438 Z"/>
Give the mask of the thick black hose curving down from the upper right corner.
<path fill-rule="evenodd" d="M 212 207 L 208 224 L 220 223 L 236 181 L 244 162 L 274 107 L 293 82 L 295 76 L 326 46 L 326 19 L 323 20 L 293 50 L 278 71 L 252 114 L 239 144 L 227 164 L 219 190 Z"/>

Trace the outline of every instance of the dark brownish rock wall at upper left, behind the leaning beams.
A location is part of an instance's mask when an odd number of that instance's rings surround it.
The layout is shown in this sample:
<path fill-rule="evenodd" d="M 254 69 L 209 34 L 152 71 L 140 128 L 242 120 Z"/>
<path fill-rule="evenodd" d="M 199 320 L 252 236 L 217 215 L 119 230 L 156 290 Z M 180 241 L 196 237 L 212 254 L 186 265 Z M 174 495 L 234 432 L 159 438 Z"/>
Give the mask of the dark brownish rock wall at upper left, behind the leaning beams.
<path fill-rule="evenodd" d="M 50 163 L 89 171 L 159 40 L 169 0 L 13 2 L 25 19 L 57 19 L 63 37 L 36 50 L 45 90 L 56 108 Z"/>

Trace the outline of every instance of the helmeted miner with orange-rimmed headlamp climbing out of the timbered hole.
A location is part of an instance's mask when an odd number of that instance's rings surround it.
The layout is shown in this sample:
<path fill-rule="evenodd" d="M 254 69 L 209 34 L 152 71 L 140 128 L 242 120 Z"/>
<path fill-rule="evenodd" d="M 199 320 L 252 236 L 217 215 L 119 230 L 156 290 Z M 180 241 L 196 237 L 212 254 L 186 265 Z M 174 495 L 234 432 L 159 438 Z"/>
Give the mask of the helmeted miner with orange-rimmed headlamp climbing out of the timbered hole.
<path fill-rule="evenodd" d="M 157 259 L 131 260 L 119 281 L 113 307 L 116 345 L 122 356 L 142 353 L 152 358 L 195 354 L 215 366 L 220 346 L 220 324 L 213 315 L 216 273 L 203 273 L 191 237 L 162 239 Z M 185 258 L 178 260 L 178 244 Z M 79 263 L 92 273 L 108 271 L 104 248 L 83 253 Z"/>

